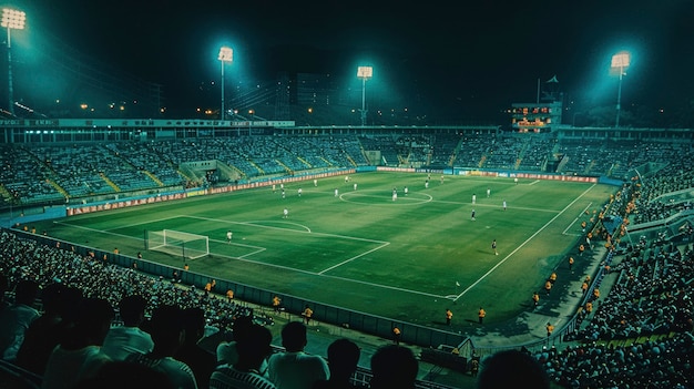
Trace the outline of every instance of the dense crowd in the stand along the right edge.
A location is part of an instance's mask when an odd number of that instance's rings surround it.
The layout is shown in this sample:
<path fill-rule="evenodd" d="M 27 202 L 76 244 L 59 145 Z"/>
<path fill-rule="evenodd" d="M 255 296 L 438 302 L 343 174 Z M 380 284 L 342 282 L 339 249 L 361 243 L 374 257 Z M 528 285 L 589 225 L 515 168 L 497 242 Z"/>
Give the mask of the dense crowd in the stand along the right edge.
<path fill-rule="evenodd" d="M 694 187 L 683 178 L 687 174 L 674 163 L 625 184 L 613 198 L 610 215 L 623 216 L 625 221 L 642 214 L 652 215 L 651 219 L 669 217 L 671 213 L 661 212 L 657 198 L 669 191 Z M 649 188 L 661 184 L 662 187 Z M 629 237 L 621 236 L 618 229 L 615 240 L 619 238 Z M 558 385 L 692 387 L 694 235 L 691 228 L 684 233 L 661 228 L 634 238 L 636 242 L 629 245 L 619 262 L 603 268 L 616 280 L 608 294 L 586 298 L 580 311 L 580 329 L 563 339 L 573 344 L 563 350 L 544 347 L 532 354 Z"/>

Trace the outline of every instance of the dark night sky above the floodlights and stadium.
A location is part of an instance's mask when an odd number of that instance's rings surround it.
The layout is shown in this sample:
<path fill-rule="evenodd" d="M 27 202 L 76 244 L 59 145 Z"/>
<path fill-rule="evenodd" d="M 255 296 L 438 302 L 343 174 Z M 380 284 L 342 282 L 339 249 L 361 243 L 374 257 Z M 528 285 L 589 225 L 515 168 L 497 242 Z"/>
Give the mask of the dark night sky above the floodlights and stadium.
<path fill-rule="evenodd" d="M 218 48 L 236 76 L 278 71 L 356 79 L 360 60 L 394 94 L 480 115 L 535 100 L 557 75 L 567 101 L 611 103 L 610 57 L 633 54 L 623 102 L 671 109 L 694 98 L 694 1 L 28 1 L 29 34 L 164 86 L 171 104 L 218 80 Z M 371 81 L 370 81 L 371 82 Z M 466 108 L 474 106 L 474 110 Z M 468 112 L 469 114 L 469 112 Z"/>

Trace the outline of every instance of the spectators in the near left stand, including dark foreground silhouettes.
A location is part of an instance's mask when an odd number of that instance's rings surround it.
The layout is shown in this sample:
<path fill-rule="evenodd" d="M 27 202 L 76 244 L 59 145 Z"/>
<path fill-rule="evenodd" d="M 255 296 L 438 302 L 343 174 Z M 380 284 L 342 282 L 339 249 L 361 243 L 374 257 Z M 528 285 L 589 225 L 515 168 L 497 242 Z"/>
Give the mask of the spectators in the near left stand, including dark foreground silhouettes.
<path fill-rule="evenodd" d="M 114 387 L 133 371 L 163 388 L 341 387 L 359 360 L 347 339 L 331 345 L 328 361 L 304 352 L 302 321 L 285 326 L 285 350 L 273 354 L 269 330 L 246 306 L 10 231 L 0 232 L 0 359 L 41 377 L 49 389 Z M 218 331 L 233 341 L 222 341 L 216 355 L 200 347 Z M 411 350 L 392 346 L 384 350 L 389 354 L 400 359 L 376 358 L 371 387 L 414 388 Z"/>

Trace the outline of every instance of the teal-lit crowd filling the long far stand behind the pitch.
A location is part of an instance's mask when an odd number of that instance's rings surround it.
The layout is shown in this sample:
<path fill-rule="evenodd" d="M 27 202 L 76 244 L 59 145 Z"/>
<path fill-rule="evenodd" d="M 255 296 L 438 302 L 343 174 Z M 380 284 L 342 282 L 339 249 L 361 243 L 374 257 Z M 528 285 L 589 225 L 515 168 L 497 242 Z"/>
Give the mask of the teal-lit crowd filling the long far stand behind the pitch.
<path fill-rule="evenodd" d="M 380 161 L 369 161 L 367 151 L 379 151 Z M 29 204 L 182 187 L 204 176 L 186 176 L 183 166 L 208 161 L 217 161 L 227 172 L 234 172 L 218 174 L 212 183 L 380 164 L 527 172 L 549 168 L 551 173 L 624 178 L 645 164 L 669 164 L 670 170 L 682 170 L 680 176 L 673 182 L 654 180 L 652 187 L 672 192 L 673 187 L 687 187 L 694 181 L 691 170 L 683 166 L 693 154 L 688 144 L 680 143 L 455 132 L 238 135 L 108 144 L 4 145 L 0 156 L 0 195 L 18 204 Z M 653 195 L 656 194 L 649 194 L 649 198 Z"/>

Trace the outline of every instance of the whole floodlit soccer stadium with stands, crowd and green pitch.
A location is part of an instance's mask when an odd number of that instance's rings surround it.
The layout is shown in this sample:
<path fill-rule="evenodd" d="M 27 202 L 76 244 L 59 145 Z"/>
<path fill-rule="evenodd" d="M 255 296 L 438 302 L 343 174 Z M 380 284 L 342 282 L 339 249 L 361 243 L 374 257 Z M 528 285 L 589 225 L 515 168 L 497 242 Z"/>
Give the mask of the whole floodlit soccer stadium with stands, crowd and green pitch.
<path fill-rule="evenodd" d="M 294 354 L 309 388 L 692 387 L 694 131 L 555 76 L 483 124 L 367 109 L 370 66 L 225 95 L 225 55 L 187 119 L 70 53 L 60 109 L 9 71 L 0 387 L 280 388 Z"/>

